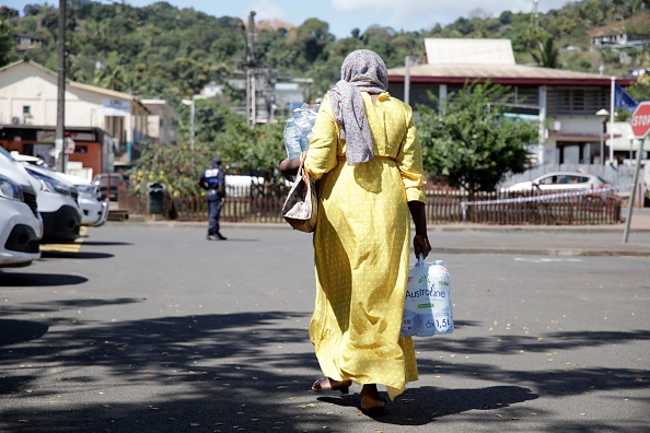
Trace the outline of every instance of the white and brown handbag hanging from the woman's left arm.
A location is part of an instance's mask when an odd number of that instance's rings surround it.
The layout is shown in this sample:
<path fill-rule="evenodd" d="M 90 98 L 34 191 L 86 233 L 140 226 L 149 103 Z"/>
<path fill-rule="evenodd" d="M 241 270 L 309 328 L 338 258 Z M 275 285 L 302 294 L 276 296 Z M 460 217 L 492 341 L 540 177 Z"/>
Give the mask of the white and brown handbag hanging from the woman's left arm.
<path fill-rule="evenodd" d="M 316 185 L 305 172 L 303 163 L 304 157 L 301 156 L 298 176 L 282 206 L 282 216 L 293 230 L 312 233 L 318 218 L 318 199 Z"/>

